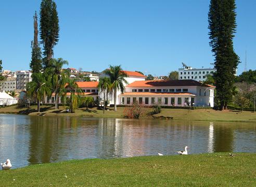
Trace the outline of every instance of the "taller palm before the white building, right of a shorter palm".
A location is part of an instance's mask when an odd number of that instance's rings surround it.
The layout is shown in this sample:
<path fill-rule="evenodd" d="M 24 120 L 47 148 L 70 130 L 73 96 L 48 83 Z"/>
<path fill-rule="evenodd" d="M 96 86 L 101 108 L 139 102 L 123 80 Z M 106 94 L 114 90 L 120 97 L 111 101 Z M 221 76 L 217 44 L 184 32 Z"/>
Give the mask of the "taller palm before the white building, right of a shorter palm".
<path fill-rule="evenodd" d="M 122 71 L 121 65 L 109 66 L 109 69 L 105 70 L 105 74 L 109 76 L 111 87 L 114 89 L 114 111 L 117 111 L 117 90 L 121 93 L 124 92 L 124 83 L 128 82 L 124 79 L 127 75 Z"/>

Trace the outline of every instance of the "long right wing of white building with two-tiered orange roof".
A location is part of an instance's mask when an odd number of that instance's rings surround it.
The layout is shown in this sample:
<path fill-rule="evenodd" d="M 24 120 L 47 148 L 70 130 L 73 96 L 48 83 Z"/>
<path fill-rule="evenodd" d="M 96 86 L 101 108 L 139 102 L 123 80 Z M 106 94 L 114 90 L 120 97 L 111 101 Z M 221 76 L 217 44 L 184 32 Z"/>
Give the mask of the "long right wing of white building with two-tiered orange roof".
<path fill-rule="evenodd" d="M 211 106 L 214 105 L 214 87 L 195 80 L 135 81 L 118 95 L 118 104 L 163 106 Z"/>

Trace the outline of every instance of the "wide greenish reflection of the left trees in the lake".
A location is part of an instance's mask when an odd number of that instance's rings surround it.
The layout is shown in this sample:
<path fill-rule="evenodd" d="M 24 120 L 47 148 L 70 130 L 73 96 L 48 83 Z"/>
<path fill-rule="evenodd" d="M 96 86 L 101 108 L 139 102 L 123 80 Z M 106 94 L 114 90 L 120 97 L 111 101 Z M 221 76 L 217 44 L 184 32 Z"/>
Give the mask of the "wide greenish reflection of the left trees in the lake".
<path fill-rule="evenodd" d="M 48 163 L 58 159 L 58 146 L 63 128 L 76 124 L 76 118 L 34 117 L 30 125 L 29 163 Z M 65 148 L 64 148 L 65 149 Z"/>

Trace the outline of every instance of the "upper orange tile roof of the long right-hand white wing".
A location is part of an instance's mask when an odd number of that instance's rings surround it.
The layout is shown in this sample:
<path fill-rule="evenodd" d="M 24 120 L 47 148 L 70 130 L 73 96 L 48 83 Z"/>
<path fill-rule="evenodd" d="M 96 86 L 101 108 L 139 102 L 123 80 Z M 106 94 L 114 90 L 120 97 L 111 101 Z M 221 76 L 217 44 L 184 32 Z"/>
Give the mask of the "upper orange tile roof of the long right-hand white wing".
<path fill-rule="evenodd" d="M 196 80 L 142 80 L 134 81 L 126 87 L 210 87 Z"/>

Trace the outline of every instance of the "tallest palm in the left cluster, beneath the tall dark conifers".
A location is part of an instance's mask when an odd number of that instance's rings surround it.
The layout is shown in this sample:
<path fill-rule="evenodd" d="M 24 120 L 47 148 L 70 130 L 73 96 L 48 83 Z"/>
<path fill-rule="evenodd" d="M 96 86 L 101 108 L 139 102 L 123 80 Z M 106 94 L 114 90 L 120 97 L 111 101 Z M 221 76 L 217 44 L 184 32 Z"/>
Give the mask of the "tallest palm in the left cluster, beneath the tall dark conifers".
<path fill-rule="evenodd" d="M 63 65 L 68 65 L 68 61 L 59 59 L 51 59 L 49 65 L 49 73 L 52 75 L 52 84 L 53 84 L 53 92 L 55 93 L 55 109 L 58 109 L 58 100 L 59 94 L 63 87 L 65 87 L 66 83 L 65 74 L 66 72 L 62 70 Z"/>

